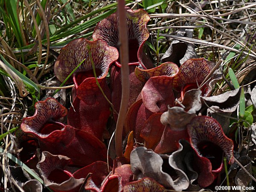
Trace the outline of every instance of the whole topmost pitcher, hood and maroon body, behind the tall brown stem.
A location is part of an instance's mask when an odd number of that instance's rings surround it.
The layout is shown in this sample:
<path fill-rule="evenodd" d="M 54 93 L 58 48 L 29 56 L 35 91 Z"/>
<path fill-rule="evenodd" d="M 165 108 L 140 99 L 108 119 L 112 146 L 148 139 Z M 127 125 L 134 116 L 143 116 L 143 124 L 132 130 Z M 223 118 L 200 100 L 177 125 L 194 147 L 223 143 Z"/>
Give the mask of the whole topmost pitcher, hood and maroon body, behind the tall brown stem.
<path fill-rule="evenodd" d="M 136 101 L 137 96 L 143 88 L 144 83 L 139 81 L 134 75 L 134 68 L 140 66 L 144 69 L 151 68 L 154 65 L 143 52 L 143 45 L 149 37 L 146 24 L 150 20 L 147 12 L 143 9 L 132 10 L 126 7 L 126 17 L 128 26 L 128 47 L 129 47 L 129 81 L 130 81 L 130 98 L 128 108 Z M 116 13 L 101 20 L 93 32 L 93 39 L 102 39 L 108 45 L 119 49 L 119 29 L 118 16 Z M 121 83 L 121 64 L 116 62 L 111 70 L 111 99 L 114 109 L 119 112 L 122 83 Z M 117 114 L 114 114 L 117 120 Z"/>

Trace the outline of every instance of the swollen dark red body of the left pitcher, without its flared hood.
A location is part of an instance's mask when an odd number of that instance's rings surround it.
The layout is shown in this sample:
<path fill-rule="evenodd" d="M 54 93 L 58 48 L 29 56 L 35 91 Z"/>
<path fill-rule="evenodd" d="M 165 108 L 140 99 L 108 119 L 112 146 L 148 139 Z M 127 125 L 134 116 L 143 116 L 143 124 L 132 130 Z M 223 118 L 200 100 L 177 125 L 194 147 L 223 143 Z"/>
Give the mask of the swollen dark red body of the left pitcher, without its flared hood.
<path fill-rule="evenodd" d="M 52 154 L 68 156 L 72 160 L 71 164 L 78 166 L 107 160 L 107 149 L 104 143 L 93 135 L 69 125 L 61 131 L 53 131 L 40 141 L 42 151 L 48 150 Z"/>

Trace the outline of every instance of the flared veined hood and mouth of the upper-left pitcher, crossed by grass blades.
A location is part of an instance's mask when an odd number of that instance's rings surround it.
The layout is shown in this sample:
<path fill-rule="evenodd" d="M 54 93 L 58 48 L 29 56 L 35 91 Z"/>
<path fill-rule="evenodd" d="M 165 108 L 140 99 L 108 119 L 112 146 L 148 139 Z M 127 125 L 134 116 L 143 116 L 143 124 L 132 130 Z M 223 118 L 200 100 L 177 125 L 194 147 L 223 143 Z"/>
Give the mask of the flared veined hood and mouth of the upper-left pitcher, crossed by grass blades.
<path fill-rule="evenodd" d="M 63 82 L 67 76 L 77 67 L 81 61 L 84 62 L 73 73 L 73 79 L 78 87 L 86 78 L 94 77 L 93 64 L 98 79 L 108 74 L 110 65 L 119 57 L 115 47 L 109 46 L 105 41 L 88 41 L 79 38 L 71 41 L 61 49 L 60 55 L 54 65 L 56 77 Z M 93 64 L 92 64 L 93 62 Z M 70 82 L 69 79 L 67 82 Z"/>

